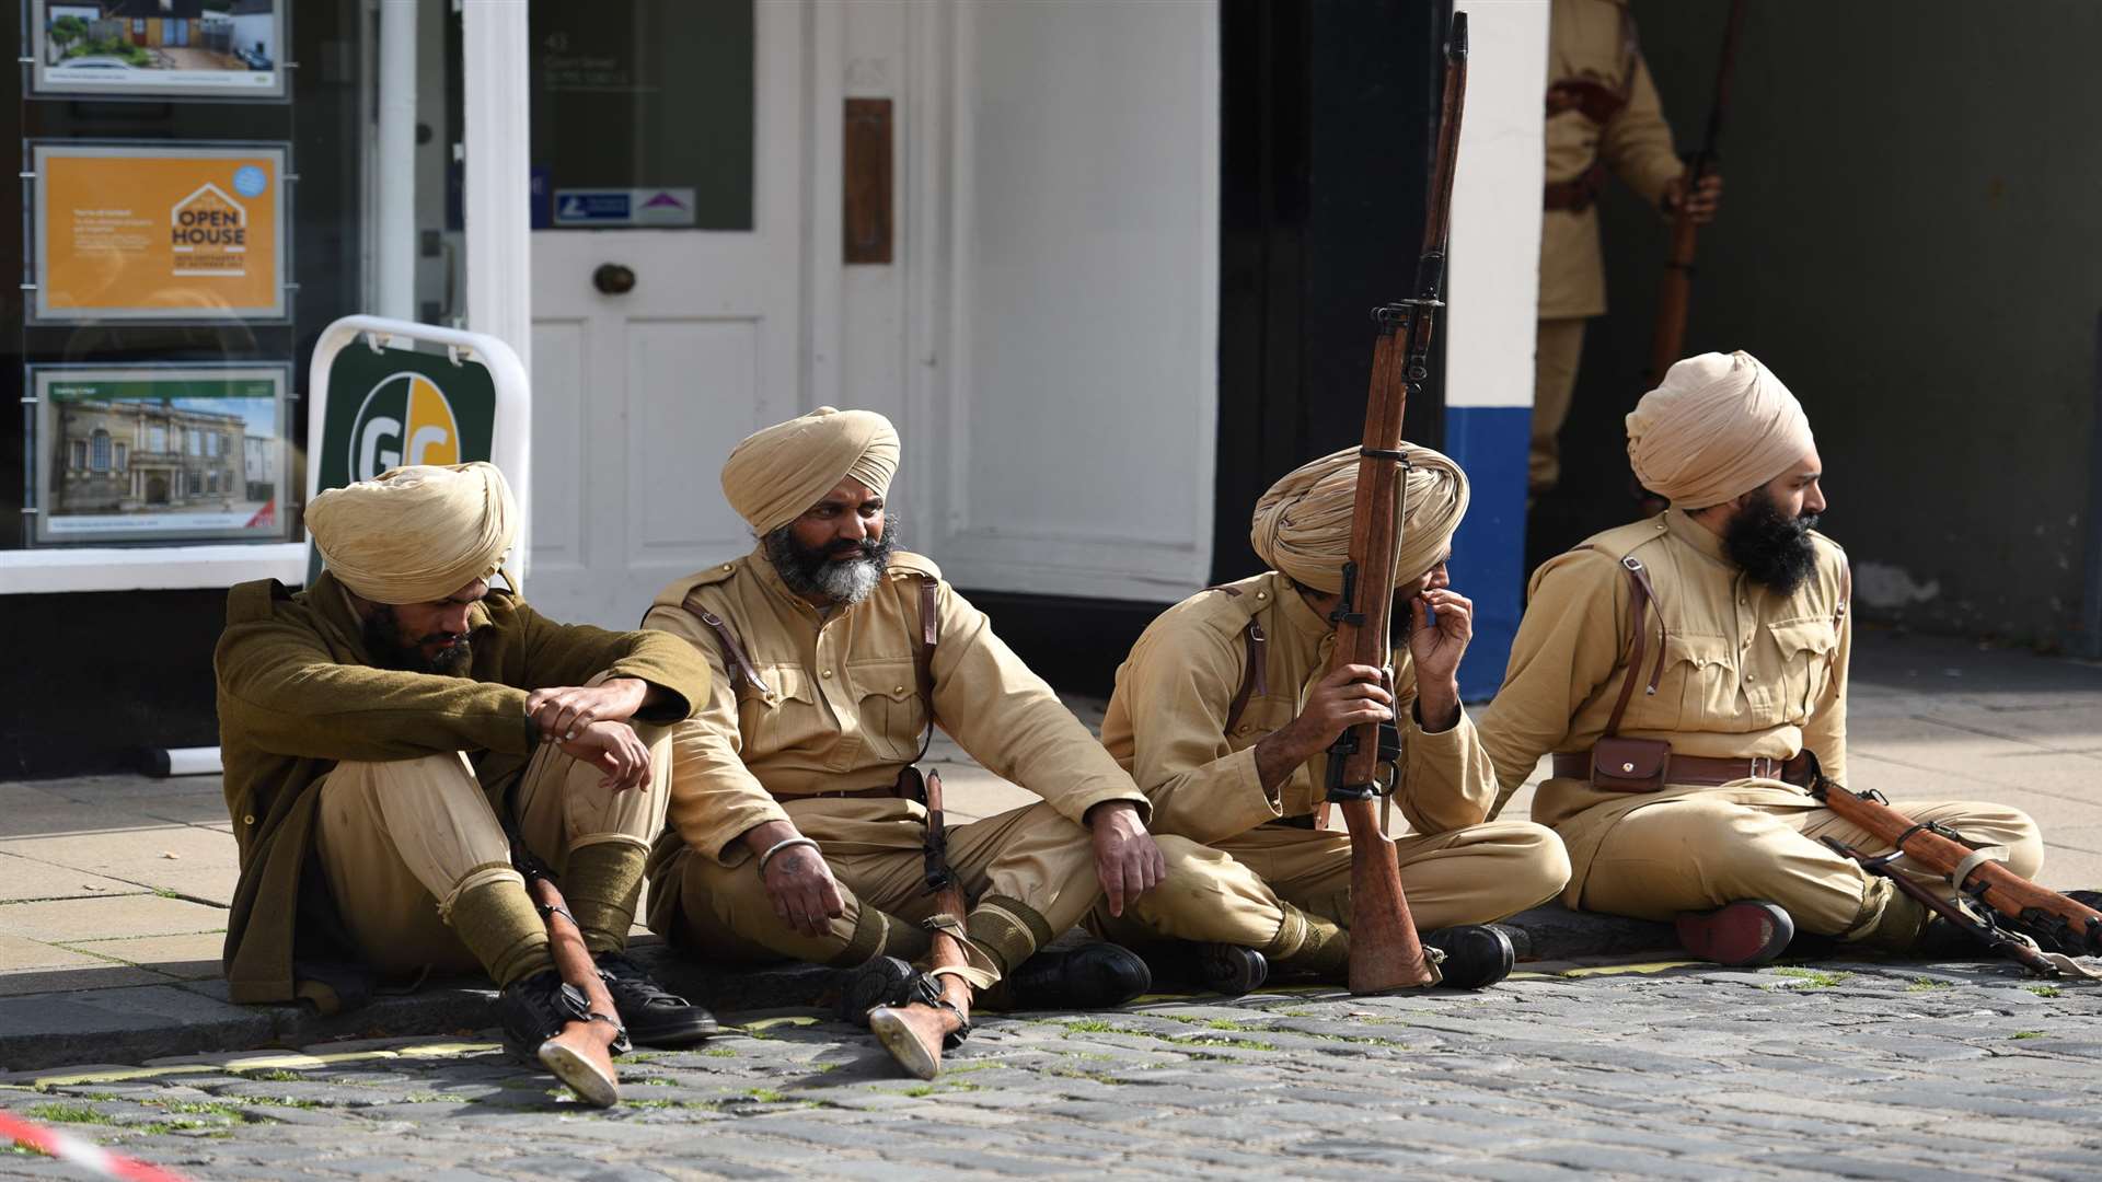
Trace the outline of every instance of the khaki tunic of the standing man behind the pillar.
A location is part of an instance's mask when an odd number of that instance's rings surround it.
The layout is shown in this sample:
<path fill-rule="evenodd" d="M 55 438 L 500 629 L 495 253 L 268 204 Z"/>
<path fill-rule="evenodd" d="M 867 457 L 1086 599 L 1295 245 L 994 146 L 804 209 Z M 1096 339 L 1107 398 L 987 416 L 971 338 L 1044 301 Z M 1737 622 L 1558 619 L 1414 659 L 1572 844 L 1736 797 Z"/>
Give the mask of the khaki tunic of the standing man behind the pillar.
<path fill-rule="evenodd" d="M 1671 147 L 1671 126 L 1650 67 L 1635 46 L 1625 0 L 1553 0 L 1547 32 L 1547 82 L 1589 80 L 1627 95 L 1604 124 L 1581 109 L 1547 118 L 1547 183 L 1574 181 L 1604 164 L 1652 206 L 1686 172 Z M 1598 204 L 1545 210 L 1541 219 L 1541 320 L 1602 315 L 1606 263 Z"/>

